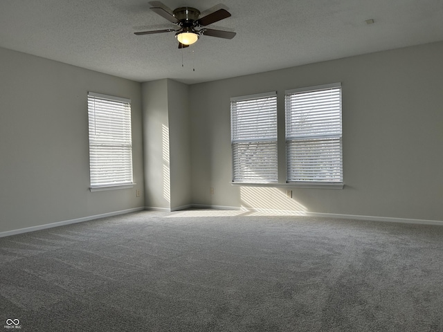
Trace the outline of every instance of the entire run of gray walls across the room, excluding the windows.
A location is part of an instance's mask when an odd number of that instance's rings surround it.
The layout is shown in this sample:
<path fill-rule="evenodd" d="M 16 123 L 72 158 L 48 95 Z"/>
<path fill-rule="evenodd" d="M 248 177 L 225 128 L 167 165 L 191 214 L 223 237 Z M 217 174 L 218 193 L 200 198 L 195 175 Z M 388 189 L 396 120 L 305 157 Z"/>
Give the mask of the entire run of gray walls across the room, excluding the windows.
<path fill-rule="evenodd" d="M 0 232 L 190 204 L 442 221 L 442 54 L 440 42 L 187 86 L 0 48 Z M 230 98 L 278 91 L 284 183 L 284 90 L 332 82 L 345 188 L 287 199 L 284 187 L 230 185 Z M 132 100 L 134 189 L 89 192 L 87 91 Z"/>

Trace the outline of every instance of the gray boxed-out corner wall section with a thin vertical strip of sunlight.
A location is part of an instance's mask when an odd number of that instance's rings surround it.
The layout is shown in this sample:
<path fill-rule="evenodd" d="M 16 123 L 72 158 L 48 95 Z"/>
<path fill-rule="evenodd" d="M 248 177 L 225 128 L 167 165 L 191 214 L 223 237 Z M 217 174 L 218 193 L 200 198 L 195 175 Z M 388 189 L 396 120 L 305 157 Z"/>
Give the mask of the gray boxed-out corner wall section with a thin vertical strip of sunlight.
<path fill-rule="evenodd" d="M 168 79 L 142 84 L 147 208 L 177 210 L 191 203 L 188 90 Z"/>

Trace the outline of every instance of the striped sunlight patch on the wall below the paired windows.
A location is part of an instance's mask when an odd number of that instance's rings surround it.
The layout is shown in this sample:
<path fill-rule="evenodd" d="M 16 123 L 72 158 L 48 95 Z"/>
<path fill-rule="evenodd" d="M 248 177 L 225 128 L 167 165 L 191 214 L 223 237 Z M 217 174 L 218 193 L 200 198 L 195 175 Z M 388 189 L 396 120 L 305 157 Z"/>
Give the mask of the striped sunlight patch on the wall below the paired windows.
<path fill-rule="evenodd" d="M 295 199 L 287 199 L 286 190 L 271 187 L 240 187 L 242 208 L 255 211 L 255 215 L 302 216 L 307 208 Z"/>

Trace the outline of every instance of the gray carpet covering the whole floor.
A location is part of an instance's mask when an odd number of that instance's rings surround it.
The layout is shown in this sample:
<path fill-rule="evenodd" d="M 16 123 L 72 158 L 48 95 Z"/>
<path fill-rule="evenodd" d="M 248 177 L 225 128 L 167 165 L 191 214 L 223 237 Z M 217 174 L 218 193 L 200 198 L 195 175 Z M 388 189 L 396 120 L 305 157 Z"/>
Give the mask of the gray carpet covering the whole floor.
<path fill-rule="evenodd" d="M 0 328 L 443 331 L 443 227 L 226 214 L 1 238 Z"/>

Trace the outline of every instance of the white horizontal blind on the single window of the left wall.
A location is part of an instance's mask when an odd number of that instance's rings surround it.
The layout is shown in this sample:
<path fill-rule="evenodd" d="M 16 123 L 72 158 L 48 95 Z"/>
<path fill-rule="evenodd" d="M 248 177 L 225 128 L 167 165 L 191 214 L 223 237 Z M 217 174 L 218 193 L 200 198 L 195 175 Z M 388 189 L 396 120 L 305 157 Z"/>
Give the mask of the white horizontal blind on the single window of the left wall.
<path fill-rule="evenodd" d="M 91 187 L 132 181 L 131 101 L 88 93 Z"/>

